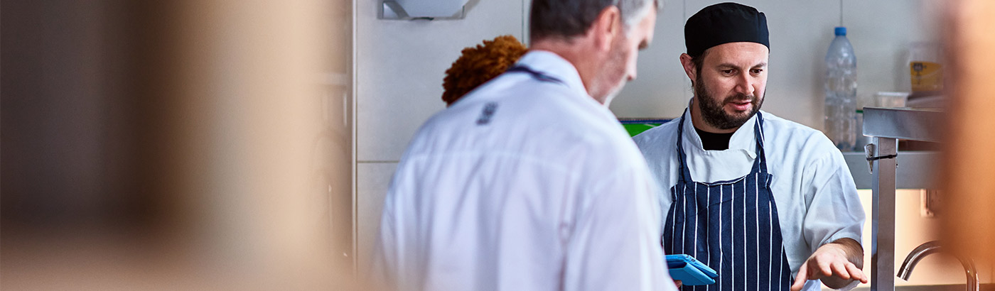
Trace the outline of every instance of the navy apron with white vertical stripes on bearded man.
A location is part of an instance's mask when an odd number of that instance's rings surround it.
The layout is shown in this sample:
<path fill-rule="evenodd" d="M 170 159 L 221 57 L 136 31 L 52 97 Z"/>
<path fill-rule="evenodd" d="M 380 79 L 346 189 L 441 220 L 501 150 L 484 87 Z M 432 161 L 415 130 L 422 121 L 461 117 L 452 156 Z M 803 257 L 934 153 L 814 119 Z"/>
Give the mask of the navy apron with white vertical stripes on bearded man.
<path fill-rule="evenodd" d="M 777 206 L 770 192 L 773 176 L 767 173 L 763 153 L 763 116 L 756 115 L 753 169 L 739 179 L 715 183 L 692 180 L 682 143 L 685 116 L 681 116 L 677 144 L 681 177 L 671 188 L 673 203 L 664 224 L 664 250 L 690 254 L 718 271 L 714 284 L 682 290 L 780 291 L 791 286 Z"/>

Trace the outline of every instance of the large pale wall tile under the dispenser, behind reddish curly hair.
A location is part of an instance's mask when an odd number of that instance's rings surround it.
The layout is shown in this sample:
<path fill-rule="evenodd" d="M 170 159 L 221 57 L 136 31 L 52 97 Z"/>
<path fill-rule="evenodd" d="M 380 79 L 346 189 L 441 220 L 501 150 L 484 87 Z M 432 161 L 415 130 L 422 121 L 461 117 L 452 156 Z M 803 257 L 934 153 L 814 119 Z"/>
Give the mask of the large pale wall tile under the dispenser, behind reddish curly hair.
<path fill-rule="evenodd" d="M 418 127 L 445 108 L 442 79 L 463 48 L 522 38 L 521 0 L 472 1 L 463 20 L 379 20 L 356 3 L 357 159 L 397 161 Z"/>

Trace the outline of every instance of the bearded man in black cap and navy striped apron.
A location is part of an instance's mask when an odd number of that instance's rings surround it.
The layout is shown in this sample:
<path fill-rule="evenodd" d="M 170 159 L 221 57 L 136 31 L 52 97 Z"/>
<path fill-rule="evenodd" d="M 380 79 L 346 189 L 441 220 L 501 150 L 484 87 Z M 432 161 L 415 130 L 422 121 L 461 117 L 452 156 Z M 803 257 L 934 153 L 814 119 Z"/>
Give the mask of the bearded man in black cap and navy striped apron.
<path fill-rule="evenodd" d="M 688 19 L 685 40 L 681 64 L 695 96 L 681 118 L 635 137 L 664 187 L 664 251 L 718 271 L 715 284 L 695 290 L 866 283 L 864 209 L 843 155 L 821 132 L 759 110 L 764 14 L 708 6 Z"/>

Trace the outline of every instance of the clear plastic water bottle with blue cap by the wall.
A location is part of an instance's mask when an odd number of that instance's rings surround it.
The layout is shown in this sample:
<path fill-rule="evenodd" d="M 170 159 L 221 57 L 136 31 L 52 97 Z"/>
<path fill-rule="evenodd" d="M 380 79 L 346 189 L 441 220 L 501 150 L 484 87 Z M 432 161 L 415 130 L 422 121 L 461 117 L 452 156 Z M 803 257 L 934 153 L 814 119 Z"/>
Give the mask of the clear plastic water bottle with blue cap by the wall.
<path fill-rule="evenodd" d="M 826 53 L 826 135 L 841 151 L 854 150 L 857 138 L 857 56 L 847 28 L 836 28 Z"/>

